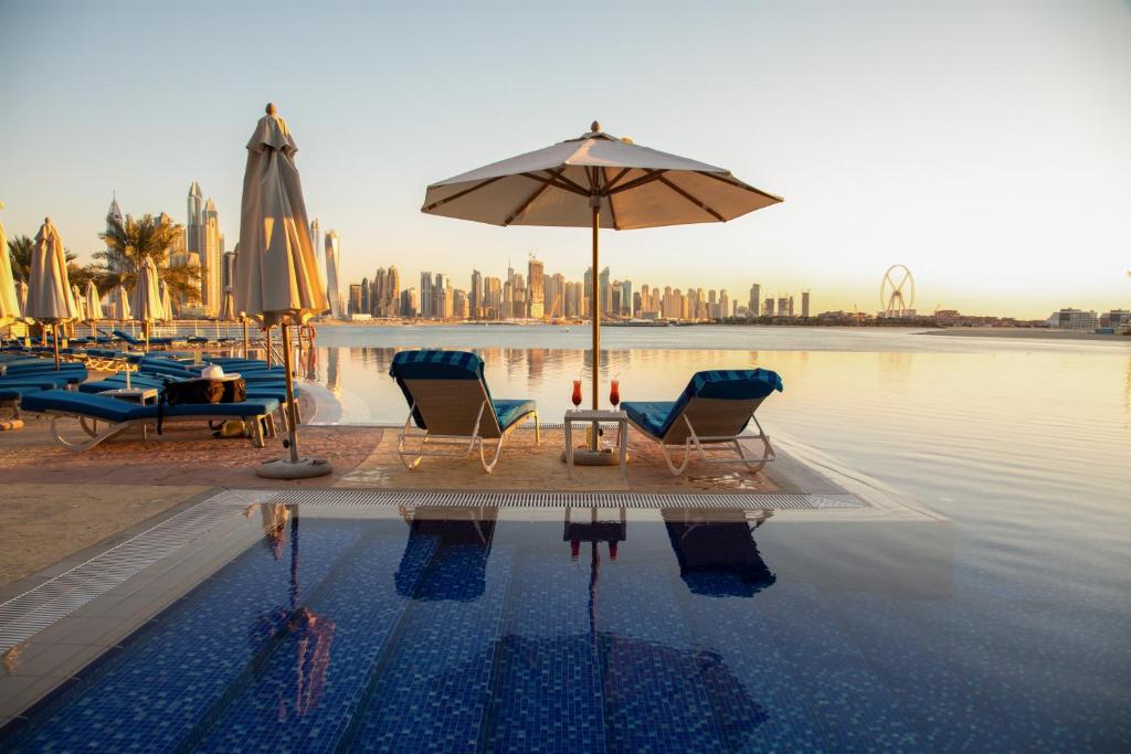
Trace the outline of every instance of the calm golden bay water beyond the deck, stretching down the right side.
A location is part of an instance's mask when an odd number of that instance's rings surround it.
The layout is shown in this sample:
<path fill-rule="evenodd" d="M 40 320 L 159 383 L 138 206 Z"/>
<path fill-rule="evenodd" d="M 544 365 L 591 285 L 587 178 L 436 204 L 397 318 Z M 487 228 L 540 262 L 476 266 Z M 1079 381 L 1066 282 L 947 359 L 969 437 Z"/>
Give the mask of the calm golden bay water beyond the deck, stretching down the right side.
<path fill-rule="evenodd" d="M 317 379 L 344 422 L 399 422 L 392 355 L 469 348 L 495 396 L 535 398 L 553 421 L 588 374 L 588 338 L 584 327 L 323 328 Z M 674 400 L 697 370 L 779 372 L 785 392 L 760 413 L 771 437 L 953 522 L 953 600 L 931 613 L 933 651 L 991 695 L 1041 690 L 1048 730 L 1125 714 L 1131 344 L 697 327 L 606 328 L 603 348 L 602 376 L 620 375 L 624 400 Z"/>

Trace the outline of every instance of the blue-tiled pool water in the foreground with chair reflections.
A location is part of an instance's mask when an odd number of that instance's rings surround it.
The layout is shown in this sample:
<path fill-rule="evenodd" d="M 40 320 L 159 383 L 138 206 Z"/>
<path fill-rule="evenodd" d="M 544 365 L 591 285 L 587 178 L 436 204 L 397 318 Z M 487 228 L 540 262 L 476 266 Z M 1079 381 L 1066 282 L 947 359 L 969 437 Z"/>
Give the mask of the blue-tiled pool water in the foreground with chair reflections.
<path fill-rule="evenodd" d="M 236 513 L 239 515 L 239 513 Z M 14 751 L 1116 751 L 1120 605 L 947 522 L 249 508 Z M 1054 598 L 1050 603 L 1050 597 Z M 1076 599 L 1086 609 L 1052 607 Z"/>

